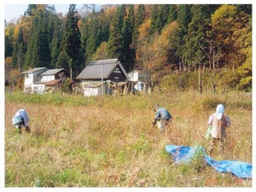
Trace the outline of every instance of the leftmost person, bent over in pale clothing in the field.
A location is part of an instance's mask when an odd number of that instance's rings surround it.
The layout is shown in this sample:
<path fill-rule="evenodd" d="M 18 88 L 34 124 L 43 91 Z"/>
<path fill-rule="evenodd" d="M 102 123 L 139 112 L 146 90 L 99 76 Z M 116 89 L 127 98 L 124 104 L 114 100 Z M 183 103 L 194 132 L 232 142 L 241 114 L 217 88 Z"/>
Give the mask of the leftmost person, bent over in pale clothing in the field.
<path fill-rule="evenodd" d="M 21 133 L 22 126 L 25 126 L 26 131 L 30 132 L 30 127 L 28 126 L 29 118 L 23 108 L 20 108 L 20 110 L 15 113 L 15 117 L 12 119 L 12 121 L 13 125 L 15 125 L 17 129 L 19 129 L 19 133 Z"/>

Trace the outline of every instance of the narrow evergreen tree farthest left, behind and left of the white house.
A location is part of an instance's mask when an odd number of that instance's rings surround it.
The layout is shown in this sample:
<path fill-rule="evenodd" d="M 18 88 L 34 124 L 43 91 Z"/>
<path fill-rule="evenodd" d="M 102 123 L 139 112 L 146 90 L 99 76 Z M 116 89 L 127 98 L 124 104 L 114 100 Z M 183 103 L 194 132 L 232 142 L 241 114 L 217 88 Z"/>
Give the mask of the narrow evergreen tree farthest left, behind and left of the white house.
<path fill-rule="evenodd" d="M 23 40 L 23 31 L 22 27 L 18 32 L 16 41 L 15 41 L 15 49 L 12 56 L 12 67 L 18 67 L 19 70 L 23 67 L 25 62 L 25 55 L 26 55 L 26 45 Z"/>

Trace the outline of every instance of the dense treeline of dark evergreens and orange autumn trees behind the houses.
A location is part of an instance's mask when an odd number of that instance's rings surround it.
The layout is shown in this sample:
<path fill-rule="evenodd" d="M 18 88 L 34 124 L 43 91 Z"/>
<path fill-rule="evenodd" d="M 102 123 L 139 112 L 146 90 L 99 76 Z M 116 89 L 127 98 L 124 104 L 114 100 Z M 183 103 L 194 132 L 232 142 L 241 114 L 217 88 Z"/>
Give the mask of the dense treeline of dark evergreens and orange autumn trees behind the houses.
<path fill-rule="evenodd" d="M 19 70 L 64 67 L 72 77 L 91 60 L 119 58 L 127 72 L 148 70 L 152 84 L 251 90 L 252 5 L 71 4 L 60 15 L 29 4 L 5 23 L 5 57 Z"/>

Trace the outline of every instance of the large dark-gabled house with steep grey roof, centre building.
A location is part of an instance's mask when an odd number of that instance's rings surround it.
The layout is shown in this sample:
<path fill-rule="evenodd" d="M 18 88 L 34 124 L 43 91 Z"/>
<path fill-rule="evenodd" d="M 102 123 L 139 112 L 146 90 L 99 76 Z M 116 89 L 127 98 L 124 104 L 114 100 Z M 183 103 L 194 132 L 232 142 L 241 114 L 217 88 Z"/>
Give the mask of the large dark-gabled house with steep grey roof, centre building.
<path fill-rule="evenodd" d="M 79 73 L 84 96 L 102 96 L 126 88 L 128 74 L 118 59 L 90 61 Z"/>

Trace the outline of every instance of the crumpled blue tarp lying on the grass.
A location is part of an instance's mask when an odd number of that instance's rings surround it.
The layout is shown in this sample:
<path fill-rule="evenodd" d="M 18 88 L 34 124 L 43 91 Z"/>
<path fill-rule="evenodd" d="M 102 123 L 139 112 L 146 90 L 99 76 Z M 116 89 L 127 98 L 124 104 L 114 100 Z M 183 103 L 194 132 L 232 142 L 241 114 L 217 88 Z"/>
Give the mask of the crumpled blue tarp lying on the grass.
<path fill-rule="evenodd" d="M 212 166 L 217 172 L 231 172 L 236 177 L 251 178 L 253 166 L 241 161 L 235 160 L 213 160 L 207 156 L 205 149 L 201 146 L 194 148 L 177 146 L 177 145 L 166 145 L 166 151 L 172 154 L 172 159 L 176 163 L 188 163 L 191 158 L 197 154 L 203 154 L 207 164 Z"/>

